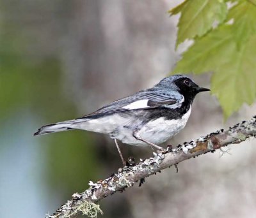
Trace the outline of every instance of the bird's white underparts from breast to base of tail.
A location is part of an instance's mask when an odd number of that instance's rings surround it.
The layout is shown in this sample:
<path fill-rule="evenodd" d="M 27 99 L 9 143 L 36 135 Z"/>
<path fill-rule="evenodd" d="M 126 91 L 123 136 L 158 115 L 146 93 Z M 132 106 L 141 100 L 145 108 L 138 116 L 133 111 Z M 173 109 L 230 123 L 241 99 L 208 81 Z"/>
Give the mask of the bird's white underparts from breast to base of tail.
<path fill-rule="evenodd" d="M 156 145 L 166 142 L 186 126 L 190 112 L 191 108 L 189 108 L 188 112 L 185 113 L 181 119 L 177 120 L 166 120 L 163 117 L 152 120 L 141 127 L 139 134 L 141 138 Z M 70 127 L 97 133 L 106 133 L 109 134 L 111 138 L 116 138 L 125 144 L 145 146 L 147 143 L 136 140 L 132 135 L 133 129 L 140 126 L 141 122 L 141 120 L 129 120 L 127 117 L 115 114 L 99 119 L 76 122 Z"/>

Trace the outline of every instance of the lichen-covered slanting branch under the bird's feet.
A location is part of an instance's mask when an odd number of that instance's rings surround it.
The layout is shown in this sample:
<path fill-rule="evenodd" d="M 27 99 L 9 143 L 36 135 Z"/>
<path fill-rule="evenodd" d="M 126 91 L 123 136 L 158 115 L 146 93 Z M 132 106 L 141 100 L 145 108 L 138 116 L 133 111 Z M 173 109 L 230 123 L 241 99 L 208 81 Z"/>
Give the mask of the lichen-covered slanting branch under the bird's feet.
<path fill-rule="evenodd" d="M 196 141 L 185 142 L 183 145 L 178 145 L 176 149 L 167 147 L 165 152 L 153 153 L 153 157 L 141 160 L 140 163 L 120 168 L 117 173 L 105 180 L 100 180 L 96 183 L 90 181 L 88 189 L 81 194 L 73 194 L 72 200 L 68 200 L 53 215 L 48 215 L 47 217 L 66 218 L 73 217 L 78 213 L 86 214 L 89 217 L 97 217 L 97 214 L 102 214 L 102 211 L 99 205 L 95 203 L 102 200 L 102 198 L 106 198 L 117 191 L 122 192 L 126 187 L 132 187 L 135 182 L 140 181 L 143 183 L 145 177 L 181 161 L 207 152 L 214 152 L 214 150 L 232 143 L 241 143 L 251 136 L 256 138 L 256 116 L 248 121 L 229 127 L 227 131 L 220 129 L 207 136 L 200 137 Z"/>

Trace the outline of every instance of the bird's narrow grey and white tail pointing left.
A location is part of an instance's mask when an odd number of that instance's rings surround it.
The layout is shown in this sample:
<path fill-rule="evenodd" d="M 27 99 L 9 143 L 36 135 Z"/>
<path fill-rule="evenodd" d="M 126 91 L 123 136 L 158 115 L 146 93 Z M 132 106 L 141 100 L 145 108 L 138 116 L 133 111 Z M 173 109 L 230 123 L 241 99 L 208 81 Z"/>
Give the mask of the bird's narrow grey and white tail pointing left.
<path fill-rule="evenodd" d="M 74 128 L 74 124 L 77 122 L 81 122 L 79 120 L 67 120 L 64 122 L 57 122 L 56 124 L 48 124 L 45 126 L 42 126 L 38 129 L 36 133 L 34 133 L 34 136 L 37 136 L 39 134 L 48 134 L 48 133 L 56 133 L 61 131 L 67 131 L 70 129 L 76 129 Z"/>

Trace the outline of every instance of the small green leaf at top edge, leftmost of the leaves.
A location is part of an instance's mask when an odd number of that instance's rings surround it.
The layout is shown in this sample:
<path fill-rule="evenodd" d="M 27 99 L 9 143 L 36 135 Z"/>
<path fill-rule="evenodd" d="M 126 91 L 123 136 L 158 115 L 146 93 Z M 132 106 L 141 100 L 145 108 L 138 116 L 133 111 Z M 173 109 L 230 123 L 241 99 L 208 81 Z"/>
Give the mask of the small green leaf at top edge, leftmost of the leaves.
<path fill-rule="evenodd" d="M 188 0 L 173 10 L 181 12 L 176 47 L 186 39 L 203 36 L 212 29 L 214 22 L 221 24 L 227 16 L 227 4 L 221 0 Z"/>

